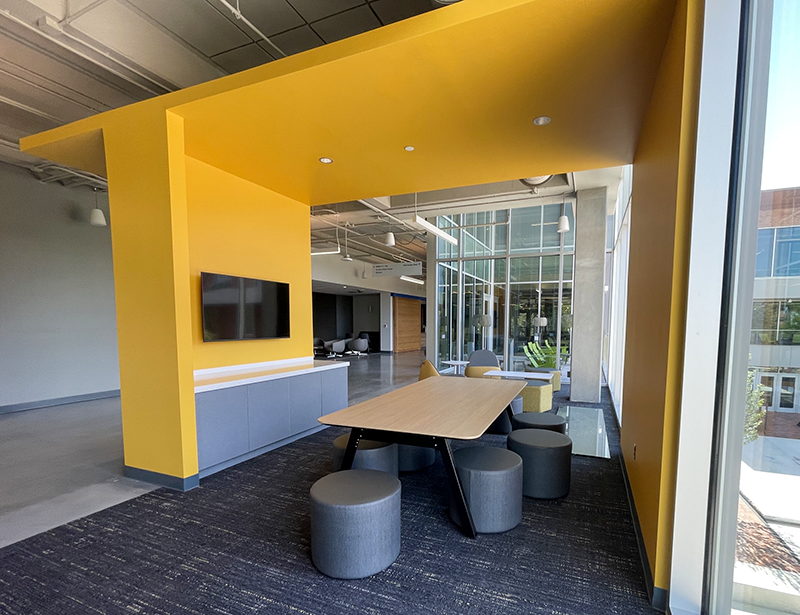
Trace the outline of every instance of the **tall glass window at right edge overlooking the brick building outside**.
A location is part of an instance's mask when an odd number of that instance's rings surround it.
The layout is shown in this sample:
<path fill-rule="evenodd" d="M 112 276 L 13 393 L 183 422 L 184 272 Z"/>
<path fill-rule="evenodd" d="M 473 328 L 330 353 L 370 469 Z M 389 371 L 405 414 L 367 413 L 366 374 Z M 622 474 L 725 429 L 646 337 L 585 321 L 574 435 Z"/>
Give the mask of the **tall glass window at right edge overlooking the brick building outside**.
<path fill-rule="evenodd" d="M 753 6 L 754 23 L 763 16 L 767 27 L 756 25 L 748 52 L 745 153 L 734 161 L 741 183 L 725 313 L 733 333 L 707 599 L 712 614 L 777 615 L 800 613 L 800 2 L 775 0 L 771 21 L 769 3 Z M 764 98 L 766 118 L 747 102 Z"/>

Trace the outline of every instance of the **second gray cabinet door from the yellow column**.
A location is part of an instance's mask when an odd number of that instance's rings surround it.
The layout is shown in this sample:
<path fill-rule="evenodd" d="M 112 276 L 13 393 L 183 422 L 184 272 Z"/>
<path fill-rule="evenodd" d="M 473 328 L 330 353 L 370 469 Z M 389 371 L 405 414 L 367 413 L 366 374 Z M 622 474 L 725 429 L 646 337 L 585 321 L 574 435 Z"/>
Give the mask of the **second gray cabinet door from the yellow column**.
<path fill-rule="evenodd" d="M 251 451 L 292 435 L 290 380 L 281 378 L 247 386 Z"/>

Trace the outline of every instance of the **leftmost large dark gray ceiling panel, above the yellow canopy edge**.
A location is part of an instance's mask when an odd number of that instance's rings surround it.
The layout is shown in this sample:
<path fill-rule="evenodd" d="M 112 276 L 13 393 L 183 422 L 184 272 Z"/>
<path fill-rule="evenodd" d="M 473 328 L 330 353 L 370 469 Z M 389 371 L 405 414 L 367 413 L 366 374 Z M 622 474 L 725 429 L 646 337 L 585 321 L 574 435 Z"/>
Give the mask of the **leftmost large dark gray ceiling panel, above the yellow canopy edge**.
<path fill-rule="evenodd" d="M 241 47 L 250 37 L 205 1 L 128 0 L 207 56 Z"/>

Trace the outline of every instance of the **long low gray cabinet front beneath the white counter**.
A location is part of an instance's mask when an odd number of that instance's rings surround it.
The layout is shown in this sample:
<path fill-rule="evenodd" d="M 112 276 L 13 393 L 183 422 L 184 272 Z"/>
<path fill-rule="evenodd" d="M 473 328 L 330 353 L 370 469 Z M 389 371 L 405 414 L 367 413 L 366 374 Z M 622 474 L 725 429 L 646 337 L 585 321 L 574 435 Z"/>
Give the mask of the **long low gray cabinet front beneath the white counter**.
<path fill-rule="evenodd" d="M 200 476 L 244 461 L 320 427 L 347 407 L 347 367 L 195 394 Z"/>

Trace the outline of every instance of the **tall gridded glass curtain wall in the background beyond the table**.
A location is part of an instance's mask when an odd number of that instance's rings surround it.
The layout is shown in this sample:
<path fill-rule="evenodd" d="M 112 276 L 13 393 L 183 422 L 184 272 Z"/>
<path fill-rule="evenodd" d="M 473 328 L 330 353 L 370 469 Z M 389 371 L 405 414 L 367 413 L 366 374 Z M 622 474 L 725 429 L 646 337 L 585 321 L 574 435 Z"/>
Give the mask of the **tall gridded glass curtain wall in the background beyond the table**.
<path fill-rule="evenodd" d="M 560 234 L 562 207 L 570 231 Z M 437 240 L 437 367 L 446 369 L 443 361 L 467 360 L 480 349 L 494 352 L 511 370 L 534 362 L 565 364 L 572 327 L 572 203 L 441 216 L 437 225 L 459 239 L 458 246 Z"/>

